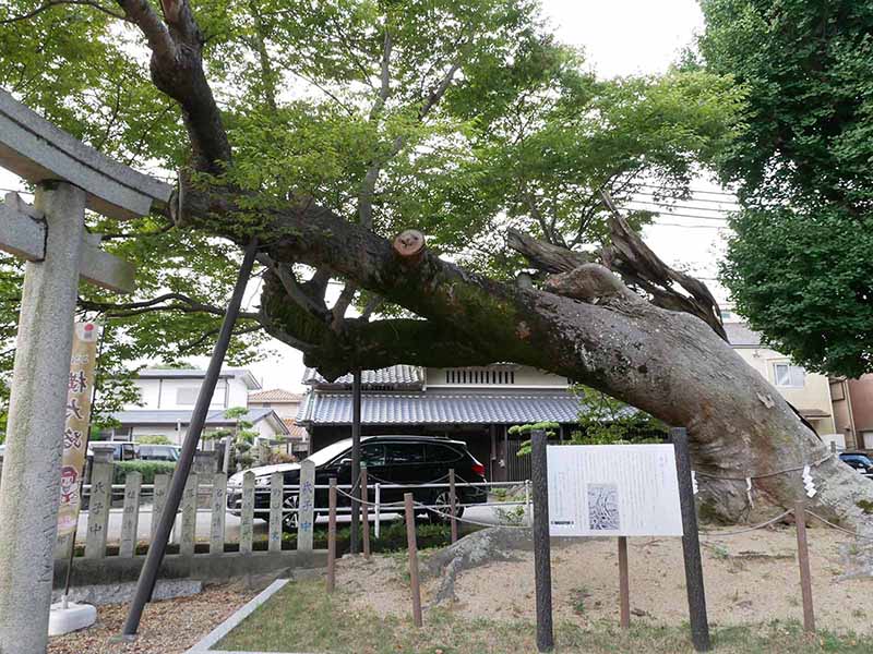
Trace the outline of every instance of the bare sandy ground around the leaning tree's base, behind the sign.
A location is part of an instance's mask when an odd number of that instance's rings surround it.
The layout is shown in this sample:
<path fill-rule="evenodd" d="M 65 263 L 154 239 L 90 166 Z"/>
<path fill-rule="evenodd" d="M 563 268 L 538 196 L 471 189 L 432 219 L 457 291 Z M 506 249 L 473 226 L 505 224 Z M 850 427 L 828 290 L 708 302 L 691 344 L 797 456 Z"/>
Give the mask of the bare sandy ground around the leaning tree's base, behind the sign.
<path fill-rule="evenodd" d="M 840 545 L 833 530 L 811 529 L 810 557 L 816 626 L 873 632 L 873 579 L 840 580 Z M 801 594 L 792 528 L 702 538 L 709 621 L 714 625 L 801 620 Z M 422 553 L 427 556 L 427 553 Z M 679 538 L 630 538 L 632 620 L 679 626 L 687 620 L 682 544 Z M 381 615 L 408 615 L 410 600 L 404 555 L 342 559 L 337 585 L 352 591 L 358 606 Z M 463 572 L 452 605 L 467 617 L 535 618 L 533 553 L 517 561 L 492 562 Z M 618 554 L 614 538 L 578 538 L 552 548 L 555 618 L 618 622 Z M 422 603 L 432 602 L 438 580 L 426 579 Z M 355 589 L 360 593 L 354 592 Z M 427 614 L 426 614 L 427 615 Z M 426 617 L 427 619 L 427 617 Z"/>

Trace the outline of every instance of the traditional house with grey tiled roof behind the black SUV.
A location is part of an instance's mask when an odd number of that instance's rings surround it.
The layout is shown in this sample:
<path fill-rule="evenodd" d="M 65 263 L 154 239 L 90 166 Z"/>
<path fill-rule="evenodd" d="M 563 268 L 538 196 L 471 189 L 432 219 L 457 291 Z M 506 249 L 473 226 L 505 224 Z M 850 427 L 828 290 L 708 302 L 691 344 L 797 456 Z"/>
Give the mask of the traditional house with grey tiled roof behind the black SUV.
<path fill-rule="evenodd" d="M 316 451 L 351 435 L 351 375 L 328 382 L 308 368 L 308 390 L 297 422 Z M 488 479 L 528 479 L 529 457 L 515 453 L 522 439 L 513 425 L 555 422 L 559 438 L 577 428 L 579 400 L 567 379 L 536 368 L 501 363 L 430 368 L 394 365 L 361 372 L 361 434 L 445 436 L 464 440 L 486 463 Z"/>

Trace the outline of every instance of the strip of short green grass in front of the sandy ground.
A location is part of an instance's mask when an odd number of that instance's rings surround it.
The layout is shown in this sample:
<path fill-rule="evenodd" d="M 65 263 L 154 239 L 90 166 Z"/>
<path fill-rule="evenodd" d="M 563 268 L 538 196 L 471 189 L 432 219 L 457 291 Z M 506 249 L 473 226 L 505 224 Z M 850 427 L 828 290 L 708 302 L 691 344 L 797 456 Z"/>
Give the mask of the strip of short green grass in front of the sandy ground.
<path fill-rule="evenodd" d="M 408 618 L 383 618 L 352 609 L 349 595 L 324 592 L 322 581 L 290 582 L 258 608 L 217 646 L 262 652 L 331 654 L 527 654 L 536 652 L 535 626 L 526 620 L 465 617 L 463 609 L 424 614 L 424 627 Z M 617 618 L 618 619 L 618 618 Z M 555 625 L 555 652 L 669 653 L 692 652 L 687 626 L 658 627 L 637 620 L 627 632 L 596 622 L 583 628 Z M 866 654 L 873 640 L 852 633 L 820 632 L 808 638 L 796 621 L 713 629 L 714 651 L 722 653 Z"/>

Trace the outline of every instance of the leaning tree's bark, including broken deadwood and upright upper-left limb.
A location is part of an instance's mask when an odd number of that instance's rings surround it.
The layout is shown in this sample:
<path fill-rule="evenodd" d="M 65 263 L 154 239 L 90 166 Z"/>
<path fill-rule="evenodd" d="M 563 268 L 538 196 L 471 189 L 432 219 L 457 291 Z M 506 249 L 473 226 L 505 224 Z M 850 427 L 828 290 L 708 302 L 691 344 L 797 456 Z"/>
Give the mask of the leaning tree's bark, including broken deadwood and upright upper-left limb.
<path fill-rule="evenodd" d="M 207 172 L 232 166 L 187 2 L 164 0 L 166 24 L 147 2 L 118 2 L 152 47 L 155 84 L 182 108 L 194 166 Z M 422 106 L 429 101 L 424 98 Z M 274 336 L 303 349 L 307 362 L 326 377 L 392 363 L 510 360 L 536 366 L 686 426 L 704 513 L 740 521 L 752 518 L 754 507 L 792 506 L 803 496 L 801 470 L 809 464 L 818 488 L 811 508 L 873 533 L 873 483 L 832 457 L 725 342 L 706 287 L 663 266 L 620 218 L 613 220 L 613 249 L 599 259 L 650 302 L 600 264 L 517 233 L 511 234 L 511 245 L 535 266 L 558 274 L 541 289 L 466 271 L 414 247 L 415 239 L 399 239 L 395 246 L 310 202 L 277 207 L 271 198 L 264 203 L 271 208 L 253 220 L 252 198 L 240 203 L 241 197 L 232 189 L 186 189 L 175 218 L 239 243 L 259 237 L 270 243 L 265 256 L 278 266 L 304 263 L 322 271 L 314 284 L 296 288 L 274 267 L 265 276 L 261 319 Z M 300 291 L 321 287 L 324 270 L 421 319 L 336 320 L 323 311 L 323 294 L 296 301 Z M 678 292 L 677 283 L 686 293 Z M 753 479 L 754 507 L 746 477 Z"/>

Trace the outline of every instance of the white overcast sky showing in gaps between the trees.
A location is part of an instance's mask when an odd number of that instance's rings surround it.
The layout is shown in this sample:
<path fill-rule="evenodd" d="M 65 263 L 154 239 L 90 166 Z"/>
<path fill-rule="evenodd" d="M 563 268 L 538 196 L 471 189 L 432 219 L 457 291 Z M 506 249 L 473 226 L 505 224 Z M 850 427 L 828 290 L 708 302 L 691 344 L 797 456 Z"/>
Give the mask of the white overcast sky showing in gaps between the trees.
<path fill-rule="evenodd" d="M 681 49 L 689 45 L 695 32 L 703 28 L 703 16 L 696 0 L 542 0 L 543 13 L 563 43 L 582 47 L 591 69 L 602 77 L 663 72 Z M 0 170 L 0 187 L 17 189 L 14 177 Z M 694 189 L 704 198 L 698 206 L 722 208 L 715 201 L 729 199 L 715 193 L 721 190 L 706 179 L 697 180 Z M 725 205 L 727 206 L 727 205 Z M 708 213 L 707 213 L 708 211 Z M 723 252 L 725 230 L 709 209 L 681 210 L 704 218 L 663 216 L 657 226 L 645 228 L 643 237 L 666 263 L 697 275 L 717 296 L 723 292 L 715 284 L 717 261 Z M 256 305 L 260 289 L 252 284 L 243 304 Z M 264 388 L 302 390 L 303 374 L 300 352 L 273 341 L 265 361 L 250 367 Z M 194 360 L 204 365 L 205 359 Z"/>

